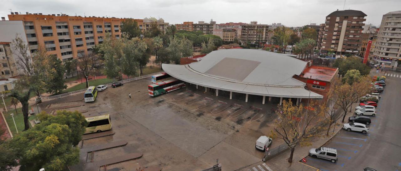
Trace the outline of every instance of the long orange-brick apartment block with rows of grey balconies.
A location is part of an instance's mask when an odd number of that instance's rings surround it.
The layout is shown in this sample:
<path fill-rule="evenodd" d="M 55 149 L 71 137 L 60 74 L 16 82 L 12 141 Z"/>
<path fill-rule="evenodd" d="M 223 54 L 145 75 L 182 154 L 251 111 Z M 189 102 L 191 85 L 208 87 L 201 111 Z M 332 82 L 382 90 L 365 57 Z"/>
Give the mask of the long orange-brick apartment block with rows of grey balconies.
<path fill-rule="evenodd" d="M 38 46 L 61 60 L 71 60 L 84 53 L 91 53 L 95 45 L 103 42 L 106 33 L 115 38 L 121 36 L 124 19 L 104 17 L 68 16 L 66 14 L 18 14 L 8 15 L 11 21 L 22 21 L 31 53 Z"/>

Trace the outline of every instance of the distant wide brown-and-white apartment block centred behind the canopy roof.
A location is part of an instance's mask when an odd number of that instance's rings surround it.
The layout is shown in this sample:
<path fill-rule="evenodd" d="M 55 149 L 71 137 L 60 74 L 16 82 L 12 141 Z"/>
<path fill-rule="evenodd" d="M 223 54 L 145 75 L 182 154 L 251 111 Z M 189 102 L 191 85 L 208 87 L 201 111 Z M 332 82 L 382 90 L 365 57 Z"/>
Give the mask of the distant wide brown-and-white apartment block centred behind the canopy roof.
<path fill-rule="evenodd" d="M 251 24 L 241 25 L 241 42 L 265 44 L 269 40 L 269 25 L 257 24 L 256 21 Z"/>

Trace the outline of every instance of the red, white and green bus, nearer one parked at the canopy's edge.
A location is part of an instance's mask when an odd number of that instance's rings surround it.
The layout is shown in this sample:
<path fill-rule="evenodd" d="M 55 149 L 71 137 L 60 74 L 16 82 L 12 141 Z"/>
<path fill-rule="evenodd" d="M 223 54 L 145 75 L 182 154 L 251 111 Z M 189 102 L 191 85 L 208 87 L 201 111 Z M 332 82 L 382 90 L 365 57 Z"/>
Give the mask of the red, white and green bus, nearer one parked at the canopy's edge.
<path fill-rule="evenodd" d="M 158 96 L 185 87 L 185 84 L 181 80 L 175 78 L 166 80 L 164 82 L 158 82 L 156 84 L 148 85 L 148 93 L 150 96 Z"/>

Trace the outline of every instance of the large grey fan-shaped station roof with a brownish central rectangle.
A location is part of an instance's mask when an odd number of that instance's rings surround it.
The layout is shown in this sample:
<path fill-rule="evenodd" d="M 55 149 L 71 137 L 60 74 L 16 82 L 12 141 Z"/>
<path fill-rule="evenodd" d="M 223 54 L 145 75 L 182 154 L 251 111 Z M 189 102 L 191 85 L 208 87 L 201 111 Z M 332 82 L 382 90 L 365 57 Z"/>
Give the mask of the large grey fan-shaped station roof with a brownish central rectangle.
<path fill-rule="evenodd" d="M 308 63 L 284 54 L 252 49 L 217 50 L 199 62 L 162 64 L 164 72 L 191 84 L 237 93 L 288 98 L 323 98 L 295 78 Z"/>

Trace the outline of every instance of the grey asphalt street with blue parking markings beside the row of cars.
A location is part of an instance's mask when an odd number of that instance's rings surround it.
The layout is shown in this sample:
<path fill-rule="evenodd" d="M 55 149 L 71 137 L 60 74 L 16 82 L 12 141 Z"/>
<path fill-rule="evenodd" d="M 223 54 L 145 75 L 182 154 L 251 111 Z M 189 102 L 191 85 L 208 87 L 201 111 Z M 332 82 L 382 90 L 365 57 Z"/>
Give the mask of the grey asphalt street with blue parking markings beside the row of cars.
<path fill-rule="evenodd" d="M 322 171 L 401 171 L 401 74 L 389 74 L 381 93 L 376 117 L 371 117 L 369 133 L 341 130 L 324 147 L 336 148 L 338 161 L 307 157 L 308 165 Z M 354 111 L 355 109 L 352 109 Z"/>

